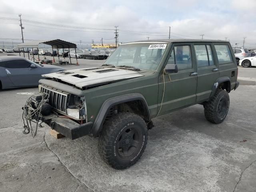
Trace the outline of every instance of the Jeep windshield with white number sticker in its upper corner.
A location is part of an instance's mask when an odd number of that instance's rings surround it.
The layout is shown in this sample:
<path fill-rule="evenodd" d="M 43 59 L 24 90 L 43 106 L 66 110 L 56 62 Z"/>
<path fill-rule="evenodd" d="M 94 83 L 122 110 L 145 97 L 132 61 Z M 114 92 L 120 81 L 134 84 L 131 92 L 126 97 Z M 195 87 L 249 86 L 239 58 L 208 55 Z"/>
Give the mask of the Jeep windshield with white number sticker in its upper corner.
<path fill-rule="evenodd" d="M 114 66 L 133 66 L 139 69 L 156 70 L 167 44 L 132 43 L 119 46 L 104 62 Z"/>

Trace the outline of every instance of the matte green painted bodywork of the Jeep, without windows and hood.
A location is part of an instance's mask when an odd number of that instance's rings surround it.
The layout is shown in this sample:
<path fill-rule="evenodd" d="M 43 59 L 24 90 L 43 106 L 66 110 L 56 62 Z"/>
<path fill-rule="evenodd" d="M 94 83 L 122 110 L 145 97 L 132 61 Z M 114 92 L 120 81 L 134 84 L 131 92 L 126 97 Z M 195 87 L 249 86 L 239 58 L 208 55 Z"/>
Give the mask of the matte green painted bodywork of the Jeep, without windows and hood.
<path fill-rule="evenodd" d="M 214 40 L 156 40 L 156 42 L 160 41 L 168 43 L 168 46 L 155 71 L 139 71 L 143 76 L 90 88 L 88 90 L 77 89 L 77 92 L 80 95 L 83 94 L 86 98 L 88 122 L 95 121 L 96 116 L 102 108 L 102 104 L 106 100 L 125 94 L 142 94 L 150 110 L 150 117 L 154 118 L 158 113 L 158 115 L 166 114 L 209 100 L 213 87 L 220 77 L 228 77 L 231 86 L 233 86 L 232 89 L 234 89 L 234 84 L 237 81 L 238 68 L 229 42 Z M 149 40 L 148 42 L 154 42 L 154 40 Z M 211 46 L 214 60 L 213 66 L 197 67 L 194 45 L 202 44 Z M 233 61 L 219 64 L 216 50 L 214 49 L 215 44 L 228 45 Z M 164 74 L 163 70 L 168 58 L 170 58 L 170 53 L 174 49 L 174 46 L 178 45 L 190 46 L 192 68 L 180 70 L 178 73 Z M 218 71 L 213 71 L 213 69 L 218 69 Z M 197 75 L 190 75 L 194 72 Z M 44 80 L 40 80 L 40 83 L 44 84 Z M 64 90 L 64 87 L 63 91 L 68 92 L 68 90 Z M 72 92 L 73 94 L 76 92 L 75 88 L 72 88 Z"/>

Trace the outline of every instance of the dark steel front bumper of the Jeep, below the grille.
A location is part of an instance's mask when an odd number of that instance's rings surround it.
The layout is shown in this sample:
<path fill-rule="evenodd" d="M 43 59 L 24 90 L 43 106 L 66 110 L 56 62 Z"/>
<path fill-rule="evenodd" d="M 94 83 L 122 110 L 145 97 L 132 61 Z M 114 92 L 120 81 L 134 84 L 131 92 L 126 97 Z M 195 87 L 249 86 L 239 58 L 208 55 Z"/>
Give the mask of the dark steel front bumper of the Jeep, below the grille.
<path fill-rule="evenodd" d="M 71 119 L 60 117 L 52 118 L 50 121 L 46 122 L 46 124 L 71 140 L 89 134 L 92 128 L 92 122 L 78 124 Z"/>

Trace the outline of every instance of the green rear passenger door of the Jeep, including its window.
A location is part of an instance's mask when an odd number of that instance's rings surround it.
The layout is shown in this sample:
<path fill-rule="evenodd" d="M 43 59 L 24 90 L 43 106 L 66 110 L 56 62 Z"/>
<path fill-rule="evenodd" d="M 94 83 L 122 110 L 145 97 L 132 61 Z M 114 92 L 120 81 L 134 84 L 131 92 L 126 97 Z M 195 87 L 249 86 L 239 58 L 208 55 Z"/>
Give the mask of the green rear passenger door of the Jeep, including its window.
<path fill-rule="evenodd" d="M 194 43 L 197 66 L 196 102 L 210 97 L 212 86 L 220 76 L 216 59 L 214 59 L 211 43 Z"/>

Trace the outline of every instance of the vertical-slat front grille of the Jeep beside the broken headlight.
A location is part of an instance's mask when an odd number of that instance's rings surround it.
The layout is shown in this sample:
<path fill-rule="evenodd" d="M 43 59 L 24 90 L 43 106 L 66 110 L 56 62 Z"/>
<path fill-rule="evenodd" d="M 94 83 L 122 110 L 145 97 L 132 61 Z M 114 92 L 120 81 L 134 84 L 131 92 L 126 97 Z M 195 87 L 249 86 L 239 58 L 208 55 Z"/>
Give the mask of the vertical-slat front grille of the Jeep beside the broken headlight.
<path fill-rule="evenodd" d="M 49 95 L 49 104 L 56 110 L 66 113 L 68 105 L 68 94 L 51 88 L 41 86 L 41 92 Z"/>

